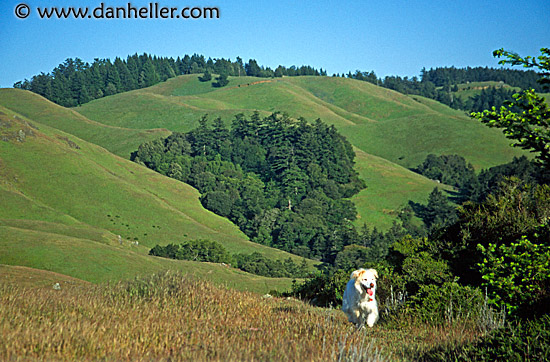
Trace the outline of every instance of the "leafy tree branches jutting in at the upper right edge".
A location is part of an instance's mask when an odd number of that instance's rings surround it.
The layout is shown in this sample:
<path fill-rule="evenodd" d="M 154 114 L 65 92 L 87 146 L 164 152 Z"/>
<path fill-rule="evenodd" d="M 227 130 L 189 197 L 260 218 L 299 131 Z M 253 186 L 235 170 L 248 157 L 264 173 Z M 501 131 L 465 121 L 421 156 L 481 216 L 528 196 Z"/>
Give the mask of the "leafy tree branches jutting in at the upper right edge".
<path fill-rule="evenodd" d="M 495 57 L 506 57 L 499 64 L 523 65 L 526 68 L 538 68 L 542 85 L 550 84 L 550 49 L 542 48 L 537 58 L 527 56 L 522 58 L 518 54 L 495 50 Z M 489 127 L 502 128 L 506 137 L 515 140 L 514 146 L 538 153 L 537 161 L 546 170 L 550 170 L 550 109 L 544 97 L 535 93 L 534 89 L 526 89 L 514 94 L 515 101 L 497 110 L 472 113 L 472 117 L 481 120 Z M 514 112 L 512 107 L 518 107 Z"/>

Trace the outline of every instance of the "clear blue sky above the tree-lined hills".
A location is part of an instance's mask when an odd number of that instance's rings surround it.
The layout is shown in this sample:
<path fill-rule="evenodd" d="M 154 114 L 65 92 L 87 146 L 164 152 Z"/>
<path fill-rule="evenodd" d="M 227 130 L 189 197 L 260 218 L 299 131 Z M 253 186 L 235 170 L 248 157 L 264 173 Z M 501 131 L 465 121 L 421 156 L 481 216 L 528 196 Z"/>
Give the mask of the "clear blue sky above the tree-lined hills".
<path fill-rule="evenodd" d="M 216 6 L 219 19 L 40 19 L 38 7 Z M 26 3 L 26 19 L 14 9 Z M 422 67 L 498 67 L 492 51 L 550 47 L 548 0 L 2 0 L 0 87 L 48 73 L 67 58 L 149 53 L 240 56 L 260 65 L 333 73 L 418 76 Z"/>

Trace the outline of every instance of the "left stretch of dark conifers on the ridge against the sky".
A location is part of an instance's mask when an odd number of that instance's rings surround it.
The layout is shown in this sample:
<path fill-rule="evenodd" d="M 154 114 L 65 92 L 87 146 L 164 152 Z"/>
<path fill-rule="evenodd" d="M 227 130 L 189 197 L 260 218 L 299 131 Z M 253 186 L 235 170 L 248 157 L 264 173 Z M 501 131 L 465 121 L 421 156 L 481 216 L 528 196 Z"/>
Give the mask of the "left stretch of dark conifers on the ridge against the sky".
<path fill-rule="evenodd" d="M 227 83 L 228 76 L 282 77 L 326 75 L 323 69 L 311 66 L 275 69 L 260 66 L 254 59 L 243 63 L 240 57 L 230 59 L 206 59 L 193 54 L 177 57 L 157 57 L 149 54 L 134 54 L 126 59 L 116 57 L 95 59 L 91 64 L 79 58 L 68 58 L 50 73 L 40 73 L 30 80 L 14 84 L 14 88 L 30 90 L 64 107 L 75 107 L 91 100 L 145 88 L 183 74 L 215 73 L 222 77 L 218 85 Z M 225 79 L 225 80 L 224 80 Z M 224 84 L 225 83 L 225 84 Z"/>

